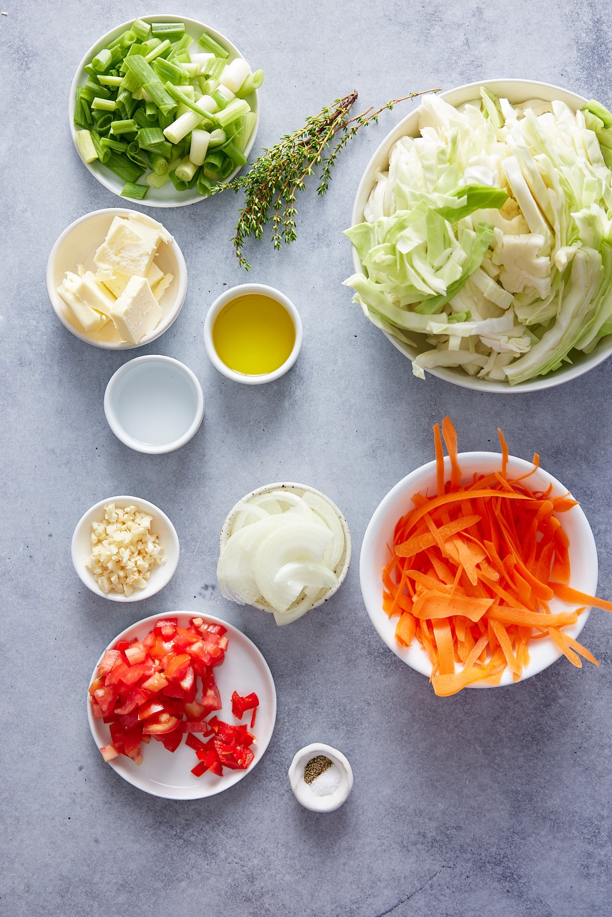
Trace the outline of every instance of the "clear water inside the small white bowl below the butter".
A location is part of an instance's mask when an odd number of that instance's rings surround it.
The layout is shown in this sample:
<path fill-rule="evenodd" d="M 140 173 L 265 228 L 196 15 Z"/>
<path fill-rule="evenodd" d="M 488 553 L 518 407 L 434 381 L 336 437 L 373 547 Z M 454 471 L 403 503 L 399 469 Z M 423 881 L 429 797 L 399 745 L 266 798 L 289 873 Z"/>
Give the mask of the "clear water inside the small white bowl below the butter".
<path fill-rule="evenodd" d="M 163 446 L 184 436 L 192 425 L 197 396 L 191 380 L 171 363 L 143 363 L 120 380 L 115 410 L 129 436 L 148 446 Z"/>

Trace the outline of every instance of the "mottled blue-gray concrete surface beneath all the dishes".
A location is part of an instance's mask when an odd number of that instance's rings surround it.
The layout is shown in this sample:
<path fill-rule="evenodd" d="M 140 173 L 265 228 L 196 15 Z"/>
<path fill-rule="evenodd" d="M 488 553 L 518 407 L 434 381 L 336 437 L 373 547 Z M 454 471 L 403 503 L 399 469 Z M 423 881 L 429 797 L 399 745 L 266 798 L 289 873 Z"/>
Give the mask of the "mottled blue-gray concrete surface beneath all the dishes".
<path fill-rule="evenodd" d="M 217 536 L 228 508 L 268 481 L 305 481 L 346 514 L 356 552 L 374 507 L 432 457 L 430 428 L 450 413 L 465 449 L 495 444 L 542 464 L 582 501 L 612 597 L 609 392 L 612 362 L 562 388 L 516 396 L 412 378 L 409 364 L 339 284 L 362 170 L 404 106 L 339 160 L 328 197 L 299 202 L 298 240 L 248 250 L 250 278 L 297 304 L 305 340 L 273 386 L 241 387 L 206 359 L 202 327 L 217 294 L 243 281 L 228 238 L 232 196 L 163 220 L 189 270 L 184 310 L 140 352 L 195 370 L 206 419 L 178 452 L 130 451 L 106 425 L 103 393 L 134 353 L 72 337 L 44 286 L 50 248 L 77 216 L 118 200 L 72 149 L 68 90 L 84 51 L 138 4 L 6 0 L 2 108 L 2 646 L 0 913 L 22 915 L 351 915 L 442 917 L 610 913 L 612 622 L 584 640 L 601 668 L 560 661 L 500 691 L 437 699 L 367 618 L 357 558 L 332 602 L 287 628 L 223 600 Z M 266 72 L 256 149 L 353 87 L 359 105 L 481 77 L 558 83 L 612 103 L 612 26 L 604 0 L 281 4 L 236 0 L 172 12 L 209 22 Z M 182 555 L 170 585 L 136 605 L 97 599 L 76 578 L 72 529 L 92 503 L 135 493 L 168 513 Z M 205 801 L 152 798 L 102 761 L 85 716 L 101 649 L 132 621 L 187 608 L 237 624 L 260 646 L 278 691 L 266 756 Z M 587 664 L 588 665 L 588 664 Z M 347 804 L 317 816 L 286 777 L 313 740 L 351 760 Z"/>

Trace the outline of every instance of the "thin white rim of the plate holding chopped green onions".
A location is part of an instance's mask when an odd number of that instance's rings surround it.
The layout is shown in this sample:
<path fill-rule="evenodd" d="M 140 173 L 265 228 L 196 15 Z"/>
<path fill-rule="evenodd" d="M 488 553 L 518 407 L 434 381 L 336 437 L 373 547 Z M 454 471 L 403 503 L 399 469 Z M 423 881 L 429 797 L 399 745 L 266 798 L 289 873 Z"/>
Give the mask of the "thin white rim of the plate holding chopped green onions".
<path fill-rule="evenodd" d="M 79 64 L 79 66 L 76 69 L 76 72 L 74 73 L 74 77 L 72 79 L 72 84 L 70 87 L 70 96 L 68 99 L 68 123 L 70 126 L 72 143 L 74 143 L 74 135 L 76 134 L 76 131 L 77 131 L 77 128 L 74 124 L 74 98 L 76 95 L 77 87 L 80 85 L 80 83 L 82 83 L 83 80 L 85 80 L 87 76 L 86 72 L 83 69 L 85 64 L 89 63 L 89 61 L 91 61 L 91 59 L 94 57 L 95 54 L 97 54 L 99 50 L 101 50 L 102 48 L 105 48 L 108 41 L 112 41 L 113 39 L 116 39 L 118 35 L 120 35 L 122 32 L 125 32 L 126 29 L 128 29 L 131 26 L 131 24 L 134 22 L 135 18 L 142 19 L 144 22 L 149 22 L 149 23 L 176 22 L 176 21 L 184 22 L 185 26 L 189 26 L 189 27 L 201 30 L 203 32 L 207 32 L 208 35 L 210 35 L 212 39 L 215 39 L 215 41 L 217 41 L 220 45 L 228 49 L 231 52 L 231 54 L 233 54 L 235 57 L 239 57 L 239 58 L 242 58 L 243 60 L 246 60 L 246 58 L 243 57 L 242 53 L 239 51 L 236 45 L 232 41 L 227 39 L 225 35 L 223 35 L 221 32 L 217 32 L 217 29 L 212 28 L 211 26 L 206 26 L 203 22 L 199 22 L 197 19 L 190 19 L 185 16 L 174 16 L 171 14 L 163 14 L 163 13 L 161 14 L 154 13 L 154 14 L 150 14 L 146 16 L 140 16 L 140 17 L 134 17 L 132 19 L 128 19 L 128 22 L 124 22 L 120 26 L 111 28 L 110 31 L 106 32 L 106 35 L 103 35 L 102 38 L 95 41 L 92 47 L 84 54 L 83 60 L 81 61 L 81 63 Z M 248 62 L 249 61 L 247 61 L 247 63 Z M 257 131 L 260 125 L 260 101 L 259 101 L 259 93 L 257 90 L 253 92 L 253 96 L 255 99 L 255 104 L 251 108 L 251 110 L 254 111 L 257 120 L 255 121 L 255 127 L 253 127 L 252 134 L 250 135 L 249 143 L 247 144 L 244 150 L 244 155 L 246 156 L 247 159 L 249 159 L 250 150 L 253 148 L 253 144 L 255 143 L 255 138 L 257 137 Z M 76 150 L 77 156 L 81 160 L 79 151 L 78 149 L 76 149 L 76 144 L 74 144 L 74 149 Z M 110 191 L 114 194 L 117 194 L 117 196 L 120 196 L 121 187 L 123 187 L 124 182 L 121 182 L 121 180 L 115 176 L 114 172 L 111 172 L 108 170 L 102 171 L 102 168 L 100 168 L 100 170 L 98 171 L 98 169 L 92 168 L 92 164 L 90 162 L 84 162 L 83 160 L 81 161 L 83 162 L 83 165 L 85 166 L 85 168 L 89 172 L 91 172 L 94 178 L 105 186 L 107 191 Z M 96 162 L 97 160 L 94 160 L 94 161 Z M 231 180 L 235 178 L 236 175 L 238 175 L 240 169 L 242 168 L 243 168 L 242 166 L 238 166 L 234 171 L 232 171 L 228 175 L 228 178 L 225 181 L 231 182 Z M 141 204 L 143 207 L 184 207 L 187 204 L 197 204 L 199 201 L 206 201 L 206 197 L 203 197 L 202 194 L 199 194 L 197 192 L 192 193 L 191 195 L 186 192 L 175 192 L 177 195 L 179 194 L 182 195 L 180 197 L 177 197 L 176 200 L 174 200 L 173 197 L 169 200 L 155 200 L 154 198 L 150 197 L 150 194 L 154 194 L 154 193 L 155 193 L 155 188 L 150 188 L 149 193 L 147 194 L 146 197 L 143 197 L 142 200 L 134 201 L 134 199 L 131 197 L 126 198 L 126 200 L 130 202 L 133 201 L 135 204 Z"/>

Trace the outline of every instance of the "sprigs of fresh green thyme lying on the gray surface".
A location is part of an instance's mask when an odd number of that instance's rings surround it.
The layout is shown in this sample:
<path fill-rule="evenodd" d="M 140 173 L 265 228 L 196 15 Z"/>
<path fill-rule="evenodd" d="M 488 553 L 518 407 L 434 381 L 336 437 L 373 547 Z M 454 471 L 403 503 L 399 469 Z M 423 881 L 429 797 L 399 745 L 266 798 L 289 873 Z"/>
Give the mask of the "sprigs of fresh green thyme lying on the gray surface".
<path fill-rule="evenodd" d="M 437 92 L 438 89 L 428 89 L 410 93 L 387 102 L 376 111 L 373 111 L 372 105 L 361 115 L 350 118 L 351 107 L 357 100 L 357 93 L 352 92 L 336 99 L 333 105 L 322 108 L 318 115 L 306 118 L 304 127 L 294 134 L 285 134 L 272 149 L 264 149 L 246 175 L 217 185 L 213 193 L 229 188 L 234 192 L 240 188 L 245 191 L 244 206 L 239 211 L 238 225 L 232 238 L 241 266 L 250 270 L 250 264 L 242 254 L 246 239 L 262 238 L 268 223 L 272 223 L 274 249 L 295 240 L 295 193 L 306 189 L 306 178 L 317 166 L 323 167 L 317 193 L 325 194 L 339 153 L 361 127 L 377 121 L 382 112 L 390 111 L 399 102 Z"/>

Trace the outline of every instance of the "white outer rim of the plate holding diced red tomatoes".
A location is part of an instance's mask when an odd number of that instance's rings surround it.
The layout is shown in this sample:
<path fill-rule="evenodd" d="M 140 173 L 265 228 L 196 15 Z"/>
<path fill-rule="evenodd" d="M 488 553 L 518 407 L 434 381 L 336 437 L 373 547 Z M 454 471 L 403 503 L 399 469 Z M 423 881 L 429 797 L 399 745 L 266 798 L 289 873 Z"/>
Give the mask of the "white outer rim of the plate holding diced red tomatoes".
<path fill-rule="evenodd" d="M 181 615 L 184 615 L 185 619 L 188 619 L 188 620 L 182 621 L 180 617 Z M 147 633 L 147 631 L 150 630 L 151 626 L 156 621 L 159 621 L 161 617 L 179 617 L 180 626 L 184 626 L 192 618 L 201 617 L 201 618 L 204 618 L 206 622 L 212 622 L 213 624 L 222 624 L 227 629 L 228 635 L 230 635 L 230 640 L 231 640 L 231 637 L 233 636 L 235 639 L 238 638 L 239 640 L 245 641 L 247 650 L 251 653 L 255 662 L 259 664 L 259 666 L 261 667 L 261 673 L 264 679 L 267 681 L 268 687 L 271 689 L 272 727 L 270 729 L 270 734 L 265 739 L 262 738 L 261 735 L 257 736 L 257 745 L 255 746 L 256 748 L 255 759 L 251 763 L 249 768 L 247 768 L 246 770 L 226 771 L 223 774 L 223 777 L 219 778 L 218 782 L 215 783 L 212 788 L 207 788 L 206 784 L 200 783 L 194 786 L 193 792 L 186 792 L 186 793 L 182 793 L 181 795 L 170 795 L 168 793 L 164 793 L 161 790 L 156 790 L 155 789 L 156 787 L 158 786 L 161 787 L 163 785 L 156 784 L 152 780 L 150 780 L 149 785 L 145 785 L 147 783 L 146 779 L 140 777 L 138 770 L 134 772 L 134 770 L 129 767 L 131 762 L 129 762 L 123 756 L 114 758 L 112 761 L 109 761 L 107 763 L 111 768 L 113 768 L 113 770 L 117 772 L 119 777 L 122 777 L 124 780 L 127 780 L 128 783 L 131 783 L 131 785 L 133 787 L 136 787 L 138 790 L 143 790 L 144 792 L 149 793 L 151 796 L 158 796 L 158 797 L 161 797 L 162 799 L 172 799 L 172 800 L 195 800 L 195 799 L 206 799 L 210 796 L 217 796 L 217 793 L 221 793 L 224 790 L 229 790 L 229 788 L 233 787 L 236 783 L 239 782 L 239 780 L 245 778 L 248 774 L 250 774 L 250 772 L 254 768 L 257 767 L 257 765 L 261 761 L 261 758 L 263 757 L 266 751 L 266 748 L 270 745 L 270 741 L 272 739 L 273 732 L 274 732 L 274 726 L 276 724 L 276 686 L 274 685 L 273 674 L 270 670 L 270 666 L 268 665 L 268 663 L 265 660 L 265 657 L 261 653 L 261 649 L 258 646 L 255 646 L 255 644 L 250 639 L 250 637 L 248 637 L 246 634 L 243 634 L 242 631 L 238 629 L 238 627 L 235 627 L 233 624 L 229 624 L 228 621 L 223 621 L 222 618 L 217 618 L 214 614 L 204 614 L 204 613 L 198 613 L 198 612 L 185 612 L 185 611 L 170 612 L 167 614 L 165 613 L 164 614 L 161 614 L 161 613 L 150 614 L 149 617 L 142 618 L 140 621 L 137 621 L 135 624 L 129 624 L 129 626 L 126 627 L 125 630 L 123 630 L 120 634 L 117 634 L 114 640 L 111 640 L 108 646 L 106 646 L 106 649 L 109 649 L 112 646 L 115 646 L 118 640 L 123 640 L 126 638 L 131 639 L 132 636 L 136 636 L 140 632 L 142 632 L 142 635 L 144 636 Z M 96 677 L 97 668 L 103 656 L 104 656 L 104 652 L 100 654 L 98 661 L 95 663 L 95 668 L 92 673 L 92 678 L 90 679 L 90 682 L 89 682 L 90 684 Z M 95 746 L 99 748 L 97 744 L 98 738 L 95 735 L 95 728 L 96 728 L 95 724 L 99 723 L 100 721 L 94 719 L 94 716 L 92 714 L 92 706 L 91 706 L 91 703 L 89 702 L 89 699 L 87 699 L 87 720 L 89 722 L 89 728 L 91 730 L 92 736 L 95 741 Z M 146 754 L 146 749 L 144 750 L 143 754 Z M 168 754 L 170 754 L 170 752 Z"/>

